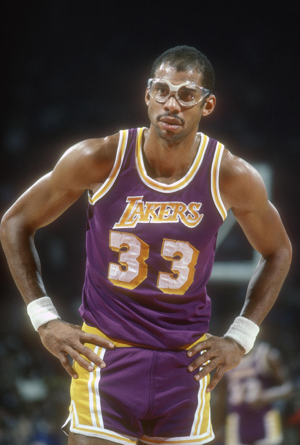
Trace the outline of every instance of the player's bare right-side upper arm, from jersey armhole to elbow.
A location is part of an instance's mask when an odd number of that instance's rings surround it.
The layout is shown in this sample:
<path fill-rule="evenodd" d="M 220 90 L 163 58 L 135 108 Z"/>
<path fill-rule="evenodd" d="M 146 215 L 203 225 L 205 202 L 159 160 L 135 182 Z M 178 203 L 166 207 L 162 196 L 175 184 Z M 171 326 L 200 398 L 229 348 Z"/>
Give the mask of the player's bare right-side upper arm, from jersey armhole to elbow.
<path fill-rule="evenodd" d="M 291 260 L 289 242 L 280 215 L 268 200 L 264 181 L 248 162 L 224 151 L 219 174 L 221 199 L 226 209 L 232 209 L 252 247 L 264 258 L 284 255 Z"/>

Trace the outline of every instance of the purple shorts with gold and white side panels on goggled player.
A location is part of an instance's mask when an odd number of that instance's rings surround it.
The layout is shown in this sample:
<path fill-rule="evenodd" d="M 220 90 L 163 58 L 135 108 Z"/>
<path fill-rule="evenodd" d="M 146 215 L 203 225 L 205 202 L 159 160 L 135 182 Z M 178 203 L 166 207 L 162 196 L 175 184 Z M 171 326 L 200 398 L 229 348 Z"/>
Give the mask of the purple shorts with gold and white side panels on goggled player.
<path fill-rule="evenodd" d="M 83 329 L 104 336 L 85 324 Z M 107 350 L 87 344 L 106 368 L 88 372 L 74 363 L 79 377 L 72 379 L 70 415 L 62 428 L 120 444 L 211 441 L 209 376 L 194 380 L 187 351 L 121 345 Z"/>

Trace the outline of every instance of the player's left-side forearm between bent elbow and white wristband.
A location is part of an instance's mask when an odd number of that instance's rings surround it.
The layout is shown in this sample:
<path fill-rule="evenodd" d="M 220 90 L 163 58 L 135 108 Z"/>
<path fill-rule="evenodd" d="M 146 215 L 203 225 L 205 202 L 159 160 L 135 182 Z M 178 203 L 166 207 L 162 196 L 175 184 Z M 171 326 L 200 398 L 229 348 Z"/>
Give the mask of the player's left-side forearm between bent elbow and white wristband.
<path fill-rule="evenodd" d="M 25 303 L 28 305 L 32 300 L 46 295 L 33 233 L 22 227 L 20 218 L 5 214 L 0 235 L 12 277 Z"/>

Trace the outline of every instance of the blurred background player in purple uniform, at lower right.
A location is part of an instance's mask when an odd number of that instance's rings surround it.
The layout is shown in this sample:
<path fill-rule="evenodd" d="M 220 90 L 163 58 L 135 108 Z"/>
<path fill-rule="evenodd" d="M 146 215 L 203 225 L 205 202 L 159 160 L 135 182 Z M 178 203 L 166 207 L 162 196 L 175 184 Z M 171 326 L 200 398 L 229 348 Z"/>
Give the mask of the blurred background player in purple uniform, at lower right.
<path fill-rule="evenodd" d="M 266 342 L 257 342 L 240 364 L 226 373 L 225 380 L 225 445 L 280 445 L 280 412 L 273 403 L 292 392 L 280 352 Z"/>

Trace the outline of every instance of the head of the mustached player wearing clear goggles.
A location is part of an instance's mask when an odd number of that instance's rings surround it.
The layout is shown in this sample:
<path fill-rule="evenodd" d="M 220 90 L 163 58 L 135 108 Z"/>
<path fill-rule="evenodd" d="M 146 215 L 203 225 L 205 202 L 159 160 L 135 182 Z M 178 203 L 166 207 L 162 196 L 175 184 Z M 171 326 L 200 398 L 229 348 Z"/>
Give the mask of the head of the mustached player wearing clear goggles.
<path fill-rule="evenodd" d="M 162 139 L 180 141 L 196 134 L 202 116 L 214 109 L 214 74 L 208 59 L 195 48 L 178 46 L 153 64 L 145 101 L 151 121 Z"/>

